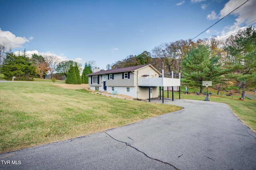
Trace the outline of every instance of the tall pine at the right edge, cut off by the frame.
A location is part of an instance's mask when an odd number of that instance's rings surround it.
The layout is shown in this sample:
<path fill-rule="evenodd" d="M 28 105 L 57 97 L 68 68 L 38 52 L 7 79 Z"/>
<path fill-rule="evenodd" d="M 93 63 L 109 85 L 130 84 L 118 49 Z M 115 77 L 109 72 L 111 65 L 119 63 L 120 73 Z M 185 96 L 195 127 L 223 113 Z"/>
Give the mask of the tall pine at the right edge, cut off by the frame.
<path fill-rule="evenodd" d="M 230 70 L 230 77 L 242 89 L 242 99 L 245 90 L 256 84 L 256 31 L 253 27 L 238 31 L 226 41 L 227 52 L 225 65 Z M 231 75 L 233 74 L 233 75 Z"/>

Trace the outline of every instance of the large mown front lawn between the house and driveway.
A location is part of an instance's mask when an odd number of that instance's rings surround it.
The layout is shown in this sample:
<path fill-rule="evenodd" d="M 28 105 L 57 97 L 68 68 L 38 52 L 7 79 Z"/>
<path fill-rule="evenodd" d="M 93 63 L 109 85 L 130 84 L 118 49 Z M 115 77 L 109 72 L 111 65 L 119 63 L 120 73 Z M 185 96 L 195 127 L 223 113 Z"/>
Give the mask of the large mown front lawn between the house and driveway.
<path fill-rule="evenodd" d="M 0 83 L 0 153 L 80 137 L 179 109 L 51 83 Z"/>

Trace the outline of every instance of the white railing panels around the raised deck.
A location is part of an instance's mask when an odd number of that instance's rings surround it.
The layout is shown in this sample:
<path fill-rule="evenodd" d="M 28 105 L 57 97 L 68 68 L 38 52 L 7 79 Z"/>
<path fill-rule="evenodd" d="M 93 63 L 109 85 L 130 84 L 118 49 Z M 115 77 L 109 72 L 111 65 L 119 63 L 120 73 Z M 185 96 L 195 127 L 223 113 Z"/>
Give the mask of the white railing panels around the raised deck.
<path fill-rule="evenodd" d="M 180 86 L 179 78 L 139 78 L 138 86 Z"/>

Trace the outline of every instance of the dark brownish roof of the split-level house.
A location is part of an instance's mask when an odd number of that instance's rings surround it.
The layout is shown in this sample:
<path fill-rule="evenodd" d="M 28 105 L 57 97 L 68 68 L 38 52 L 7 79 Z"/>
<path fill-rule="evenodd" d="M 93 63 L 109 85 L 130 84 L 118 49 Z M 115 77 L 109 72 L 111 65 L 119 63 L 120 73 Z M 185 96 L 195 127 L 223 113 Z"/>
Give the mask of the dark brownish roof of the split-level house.
<path fill-rule="evenodd" d="M 94 75 L 101 75 L 101 74 L 111 74 L 111 73 L 118 73 L 118 72 L 128 72 L 128 71 L 134 71 L 137 70 L 139 68 L 145 67 L 145 66 L 150 66 L 152 67 L 154 70 L 156 70 L 156 68 L 154 68 L 151 64 L 145 64 L 145 65 L 140 65 L 140 66 L 131 66 L 131 67 L 124 67 L 124 68 L 116 68 L 116 69 L 112 69 L 112 70 L 102 70 L 99 72 L 94 72 L 91 74 L 88 74 L 86 76 L 94 76 Z M 159 72 L 158 70 L 156 70 L 157 72 Z M 160 73 L 160 72 L 159 72 Z M 161 73 L 160 73 L 161 74 Z"/>

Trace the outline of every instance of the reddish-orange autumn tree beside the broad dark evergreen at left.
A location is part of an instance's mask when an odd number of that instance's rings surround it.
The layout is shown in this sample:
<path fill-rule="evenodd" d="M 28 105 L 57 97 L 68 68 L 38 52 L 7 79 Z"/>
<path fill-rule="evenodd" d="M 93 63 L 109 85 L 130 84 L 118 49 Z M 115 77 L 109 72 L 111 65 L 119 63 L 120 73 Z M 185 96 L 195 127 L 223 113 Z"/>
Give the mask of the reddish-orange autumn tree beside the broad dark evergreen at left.
<path fill-rule="evenodd" d="M 40 76 L 40 79 L 43 78 L 47 71 L 49 70 L 48 64 L 46 63 L 44 57 L 42 55 L 32 54 L 32 62 L 36 66 L 36 74 Z"/>

